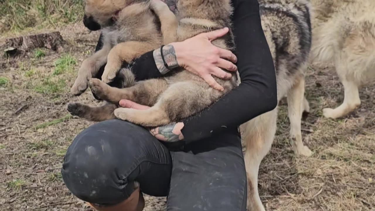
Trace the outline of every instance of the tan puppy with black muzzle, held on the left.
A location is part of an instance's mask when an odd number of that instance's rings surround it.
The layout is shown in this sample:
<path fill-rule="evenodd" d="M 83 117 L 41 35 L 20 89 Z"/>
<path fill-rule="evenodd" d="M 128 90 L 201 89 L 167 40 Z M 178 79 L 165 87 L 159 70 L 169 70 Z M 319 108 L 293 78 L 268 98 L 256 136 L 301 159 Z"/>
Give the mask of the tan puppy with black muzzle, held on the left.
<path fill-rule="evenodd" d="M 98 74 L 105 65 L 102 78 L 113 80 L 117 75 L 122 84 L 134 84 L 130 69 L 121 69 L 122 63 L 130 64 L 135 58 L 175 39 L 177 19 L 168 6 L 161 1 L 150 0 L 86 0 L 84 24 L 92 30 L 102 29 L 103 47 L 84 60 L 71 93 L 80 95 L 90 78 Z M 164 33 L 165 32 L 165 33 Z M 119 71 L 120 70 L 120 71 Z M 80 103 L 69 103 L 72 115 L 92 121 L 113 119 L 117 105 L 105 103 L 90 107 Z"/>

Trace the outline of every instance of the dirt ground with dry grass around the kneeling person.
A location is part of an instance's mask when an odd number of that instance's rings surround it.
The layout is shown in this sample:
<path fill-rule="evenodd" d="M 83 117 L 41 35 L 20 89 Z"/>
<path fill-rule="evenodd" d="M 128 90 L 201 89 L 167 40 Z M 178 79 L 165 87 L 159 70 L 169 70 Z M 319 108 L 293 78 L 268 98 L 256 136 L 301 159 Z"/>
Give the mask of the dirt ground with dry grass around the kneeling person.
<path fill-rule="evenodd" d="M 93 124 L 68 115 L 66 104 L 98 103 L 89 92 L 74 97 L 69 89 L 99 36 L 81 23 L 60 32 L 68 41 L 63 52 L 42 49 L 17 58 L 0 57 L 1 211 L 91 210 L 65 187 L 60 167 L 75 135 Z M 260 167 L 260 196 L 266 209 L 374 211 L 375 85 L 361 89 L 360 109 L 330 120 L 323 118 L 322 108 L 335 107 L 343 99 L 334 70 L 311 66 L 306 83 L 311 113 L 302 128 L 314 155 L 293 154 L 282 102 L 276 139 Z M 146 203 L 145 211 L 163 210 L 165 198 L 146 196 Z"/>

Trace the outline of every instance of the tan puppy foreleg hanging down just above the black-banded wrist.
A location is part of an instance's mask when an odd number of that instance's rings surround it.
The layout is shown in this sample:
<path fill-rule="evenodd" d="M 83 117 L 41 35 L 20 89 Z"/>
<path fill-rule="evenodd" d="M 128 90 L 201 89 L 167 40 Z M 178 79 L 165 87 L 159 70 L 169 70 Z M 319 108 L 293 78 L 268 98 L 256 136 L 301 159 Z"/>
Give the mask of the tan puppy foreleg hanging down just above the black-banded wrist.
<path fill-rule="evenodd" d="M 161 23 L 161 32 L 163 36 L 163 44 L 169 44 L 177 40 L 178 21 L 173 12 L 162 1 L 151 1 L 151 8 L 159 17 Z"/>

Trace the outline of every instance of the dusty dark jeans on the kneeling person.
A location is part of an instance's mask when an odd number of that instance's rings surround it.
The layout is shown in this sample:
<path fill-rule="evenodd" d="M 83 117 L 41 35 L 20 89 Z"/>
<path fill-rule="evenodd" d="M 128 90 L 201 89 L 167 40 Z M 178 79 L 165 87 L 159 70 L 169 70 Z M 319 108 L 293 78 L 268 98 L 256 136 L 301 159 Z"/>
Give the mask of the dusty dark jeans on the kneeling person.
<path fill-rule="evenodd" d="M 117 119 L 82 131 L 69 146 L 62 175 L 78 198 L 119 203 L 134 181 L 167 210 L 246 211 L 246 172 L 237 131 L 171 151 L 142 127 Z"/>

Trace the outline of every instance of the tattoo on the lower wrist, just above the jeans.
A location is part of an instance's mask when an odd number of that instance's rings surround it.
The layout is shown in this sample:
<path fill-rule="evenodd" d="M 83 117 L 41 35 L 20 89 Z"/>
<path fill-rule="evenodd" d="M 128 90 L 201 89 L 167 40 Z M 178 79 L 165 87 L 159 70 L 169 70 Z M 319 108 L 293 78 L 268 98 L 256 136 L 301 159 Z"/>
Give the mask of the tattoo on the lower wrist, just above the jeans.
<path fill-rule="evenodd" d="M 168 125 L 160 126 L 157 128 L 153 128 L 150 130 L 151 134 L 153 134 L 157 139 L 162 140 L 164 142 L 177 142 L 183 139 L 181 132 L 177 134 L 174 130 L 176 129 L 177 123 L 173 122 Z M 177 126 L 178 127 L 178 126 Z M 177 130 L 178 131 L 178 130 Z"/>

